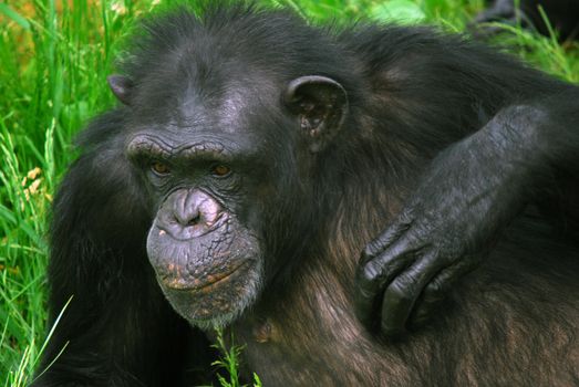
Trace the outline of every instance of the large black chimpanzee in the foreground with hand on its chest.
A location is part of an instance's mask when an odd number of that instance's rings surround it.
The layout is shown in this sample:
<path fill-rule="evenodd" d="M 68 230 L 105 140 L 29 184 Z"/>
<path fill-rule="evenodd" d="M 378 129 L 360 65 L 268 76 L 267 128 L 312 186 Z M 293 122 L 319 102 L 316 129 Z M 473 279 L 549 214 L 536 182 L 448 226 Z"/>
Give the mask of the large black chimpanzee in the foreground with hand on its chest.
<path fill-rule="evenodd" d="M 34 386 L 198 383 L 213 326 L 265 386 L 579 383 L 578 87 L 430 28 L 201 14 L 144 21 L 80 137 Z"/>

